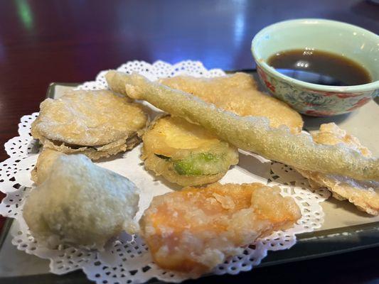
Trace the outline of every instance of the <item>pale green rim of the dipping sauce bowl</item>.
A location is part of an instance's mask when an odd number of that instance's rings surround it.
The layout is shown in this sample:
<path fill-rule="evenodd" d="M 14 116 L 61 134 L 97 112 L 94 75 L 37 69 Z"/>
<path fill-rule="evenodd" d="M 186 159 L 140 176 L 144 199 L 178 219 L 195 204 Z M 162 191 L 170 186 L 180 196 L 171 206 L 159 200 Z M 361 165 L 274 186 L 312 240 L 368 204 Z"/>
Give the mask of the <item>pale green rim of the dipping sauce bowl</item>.
<path fill-rule="evenodd" d="M 255 45 L 257 43 L 258 38 L 261 38 L 263 33 L 266 33 L 267 31 L 270 31 L 273 28 L 277 28 L 277 26 L 284 26 L 290 23 L 304 23 L 305 21 L 311 21 L 315 23 L 327 23 L 327 24 L 330 24 L 331 26 L 346 26 L 347 28 L 354 28 L 356 31 L 367 33 L 369 36 L 376 38 L 378 40 L 378 45 L 379 45 L 379 35 L 376 35 L 375 33 L 368 31 L 365 28 L 354 26 L 350 23 L 343 23 L 341 21 L 333 21 L 333 20 L 328 20 L 324 18 L 297 18 L 293 20 L 279 21 L 265 28 L 262 28 L 262 30 L 260 30 L 254 36 L 254 38 L 252 38 L 251 52 L 252 52 L 252 57 L 254 58 L 257 66 L 262 67 L 263 69 L 265 69 L 266 72 L 269 72 L 272 75 L 277 76 L 284 81 L 291 82 L 292 84 L 296 84 L 298 86 L 305 87 L 306 89 L 310 89 L 310 90 L 316 90 L 316 91 L 322 91 L 322 92 L 351 93 L 351 92 L 368 92 L 368 91 L 375 91 L 376 89 L 379 89 L 379 80 L 376 80 L 367 84 L 357 84 L 357 85 L 352 85 L 352 86 L 329 86 L 329 85 L 324 85 L 324 84 L 314 84 L 314 83 L 304 82 L 304 81 L 289 77 L 287 75 L 283 75 L 282 73 L 275 70 L 274 67 L 269 66 L 267 62 L 265 62 L 264 60 L 260 60 L 258 58 L 258 55 L 255 51 L 256 50 Z"/>

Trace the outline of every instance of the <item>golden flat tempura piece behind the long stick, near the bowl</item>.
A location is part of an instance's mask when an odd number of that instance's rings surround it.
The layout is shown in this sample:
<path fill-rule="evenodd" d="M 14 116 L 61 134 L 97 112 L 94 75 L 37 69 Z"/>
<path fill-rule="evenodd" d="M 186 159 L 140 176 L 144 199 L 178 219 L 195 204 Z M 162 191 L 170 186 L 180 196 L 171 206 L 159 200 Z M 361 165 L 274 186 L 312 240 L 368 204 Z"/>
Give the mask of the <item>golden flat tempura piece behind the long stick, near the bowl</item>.
<path fill-rule="evenodd" d="M 260 92 L 253 77 L 246 73 L 237 72 L 215 78 L 178 76 L 159 82 L 240 116 L 267 117 L 269 125 L 274 128 L 284 124 L 292 133 L 299 133 L 303 127 L 303 120 L 297 111 L 279 99 Z"/>

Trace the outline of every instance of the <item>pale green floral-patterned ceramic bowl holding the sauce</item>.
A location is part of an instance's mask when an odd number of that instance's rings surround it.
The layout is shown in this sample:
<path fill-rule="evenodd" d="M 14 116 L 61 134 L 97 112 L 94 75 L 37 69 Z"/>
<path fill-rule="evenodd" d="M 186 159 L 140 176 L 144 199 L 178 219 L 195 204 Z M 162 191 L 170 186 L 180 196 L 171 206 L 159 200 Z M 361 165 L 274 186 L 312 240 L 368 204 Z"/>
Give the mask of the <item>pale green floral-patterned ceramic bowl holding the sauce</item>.
<path fill-rule="evenodd" d="M 356 86 L 311 84 L 283 75 L 267 59 L 283 50 L 316 49 L 351 58 L 373 82 Z M 379 95 L 379 36 L 338 21 L 298 19 L 275 23 L 252 40 L 257 72 L 268 91 L 301 114 L 332 116 L 362 107 Z"/>

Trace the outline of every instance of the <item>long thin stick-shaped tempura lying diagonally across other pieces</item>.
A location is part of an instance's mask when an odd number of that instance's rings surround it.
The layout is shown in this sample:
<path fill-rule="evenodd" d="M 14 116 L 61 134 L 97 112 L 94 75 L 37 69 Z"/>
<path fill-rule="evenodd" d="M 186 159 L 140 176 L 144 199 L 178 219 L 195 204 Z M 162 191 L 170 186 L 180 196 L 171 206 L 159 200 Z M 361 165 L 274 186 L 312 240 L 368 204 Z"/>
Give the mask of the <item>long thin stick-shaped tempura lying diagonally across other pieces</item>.
<path fill-rule="evenodd" d="M 144 99 L 174 116 L 200 124 L 245 151 L 304 170 L 346 175 L 358 180 L 379 180 L 379 160 L 365 158 L 346 146 L 318 144 L 304 133 L 290 133 L 285 126 L 272 129 L 267 118 L 237 116 L 135 73 L 110 71 L 106 78 L 116 92 Z"/>

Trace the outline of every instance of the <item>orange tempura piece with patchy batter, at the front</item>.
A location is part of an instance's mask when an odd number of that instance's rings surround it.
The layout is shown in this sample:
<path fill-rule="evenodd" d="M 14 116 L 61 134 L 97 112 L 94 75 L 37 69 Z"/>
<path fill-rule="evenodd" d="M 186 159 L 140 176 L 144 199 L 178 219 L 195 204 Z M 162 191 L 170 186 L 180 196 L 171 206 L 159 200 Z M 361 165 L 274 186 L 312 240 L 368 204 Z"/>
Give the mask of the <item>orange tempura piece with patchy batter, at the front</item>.
<path fill-rule="evenodd" d="M 300 217 L 297 204 L 282 197 L 279 187 L 215 183 L 154 197 L 140 226 L 156 264 L 201 274 Z"/>

